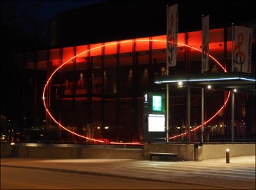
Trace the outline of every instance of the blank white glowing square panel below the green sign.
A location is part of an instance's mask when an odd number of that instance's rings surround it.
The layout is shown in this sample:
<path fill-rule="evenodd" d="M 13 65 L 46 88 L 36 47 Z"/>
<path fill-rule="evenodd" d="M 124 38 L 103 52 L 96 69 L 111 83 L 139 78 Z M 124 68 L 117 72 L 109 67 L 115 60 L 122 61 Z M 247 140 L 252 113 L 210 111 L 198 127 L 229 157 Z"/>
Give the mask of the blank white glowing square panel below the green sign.
<path fill-rule="evenodd" d="M 149 114 L 148 132 L 165 132 L 165 115 Z"/>

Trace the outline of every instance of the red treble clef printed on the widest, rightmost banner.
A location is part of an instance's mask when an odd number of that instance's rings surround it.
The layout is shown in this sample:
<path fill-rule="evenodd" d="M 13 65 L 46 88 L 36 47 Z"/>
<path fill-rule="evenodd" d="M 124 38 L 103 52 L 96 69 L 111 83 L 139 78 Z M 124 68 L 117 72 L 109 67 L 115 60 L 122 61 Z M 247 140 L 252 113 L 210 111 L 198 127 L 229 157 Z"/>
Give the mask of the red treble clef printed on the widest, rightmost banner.
<path fill-rule="evenodd" d="M 244 43 L 244 35 L 238 34 L 238 44 L 234 47 L 234 63 L 240 64 L 242 71 L 242 64 L 245 62 L 244 52 L 241 51 L 241 45 Z"/>

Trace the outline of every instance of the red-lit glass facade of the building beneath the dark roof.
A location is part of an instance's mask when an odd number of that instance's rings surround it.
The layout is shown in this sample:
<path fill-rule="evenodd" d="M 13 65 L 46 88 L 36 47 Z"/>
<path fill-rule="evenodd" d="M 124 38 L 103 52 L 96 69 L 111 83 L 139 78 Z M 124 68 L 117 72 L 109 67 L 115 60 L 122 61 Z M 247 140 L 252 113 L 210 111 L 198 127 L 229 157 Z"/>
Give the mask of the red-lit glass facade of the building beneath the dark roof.
<path fill-rule="evenodd" d="M 210 30 L 210 54 L 230 72 L 231 36 L 227 31 L 230 28 Z M 170 67 L 169 74 L 200 74 L 201 51 L 198 50 L 201 49 L 201 31 L 178 34 L 178 43 L 177 66 Z M 40 141 L 97 143 L 83 138 L 85 136 L 106 143 L 143 142 L 144 93 L 166 92 L 165 85 L 154 83 L 156 76 L 166 75 L 166 35 L 34 53 L 37 54 L 35 60 L 25 58 L 18 61 L 23 61 L 26 72 L 32 74 L 32 91 L 27 93 L 32 97 L 33 102 L 30 103 L 33 110 L 37 110 L 30 115 L 32 122 L 24 127 L 28 129 L 40 123 Z M 253 74 L 254 57 L 253 51 Z M 209 67 L 208 72 L 224 72 L 213 60 L 210 60 Z M 57 123 L 48 113 L 44 113 L 42 106 L 42 91 L 47 81 L 45 106 Z M 170 87 L 170 137 L 186 132 L 186 89 Z M 204 126 L 205 143 L 231 142 L 231 100 L 220 110 L 227 98 L 228 92 L 223 90 L 205 90 L 204 118 L 205 121 L 211 119 Z M 235 100 L 235 140 L 254 141 L 255 94 L 238 92 L 235 93 Z M 59 124 L 73 133 L 62 129 Z M 191 129 L 199 125 L 201 89 L 192 87 Z M 31 131 L 28 130 L 25 136 Z M 201 138 L 200 131 L 198 129 L 190 133 L 191 142 Z M 27 140 L 32 140 L 32 135 Z M 185 143 L 185 136 L 171 138 L 170 141 Z"/>

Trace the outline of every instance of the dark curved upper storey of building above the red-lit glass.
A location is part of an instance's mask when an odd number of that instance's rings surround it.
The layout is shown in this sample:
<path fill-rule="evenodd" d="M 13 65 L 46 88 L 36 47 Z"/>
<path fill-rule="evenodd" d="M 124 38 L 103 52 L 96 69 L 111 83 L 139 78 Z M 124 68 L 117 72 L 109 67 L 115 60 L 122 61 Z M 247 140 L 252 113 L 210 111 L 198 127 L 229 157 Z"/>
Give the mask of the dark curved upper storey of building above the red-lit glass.
<path fill-rule="evenodd" d="M 211 28 L 255 23 L 254 8 L 247 0 L 105 1 L 55 15 L 48 25 L 49 45 L 68 47 L 165 34 L 166 7 L 175 4 L 181 33 L 201 30 L 201 15 L 210 15 Z"/>

